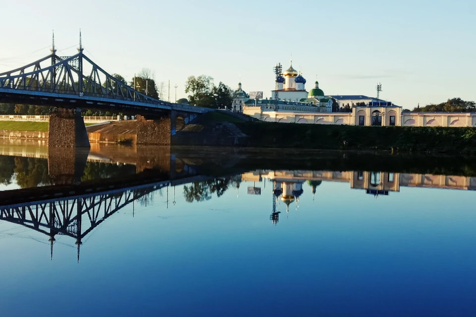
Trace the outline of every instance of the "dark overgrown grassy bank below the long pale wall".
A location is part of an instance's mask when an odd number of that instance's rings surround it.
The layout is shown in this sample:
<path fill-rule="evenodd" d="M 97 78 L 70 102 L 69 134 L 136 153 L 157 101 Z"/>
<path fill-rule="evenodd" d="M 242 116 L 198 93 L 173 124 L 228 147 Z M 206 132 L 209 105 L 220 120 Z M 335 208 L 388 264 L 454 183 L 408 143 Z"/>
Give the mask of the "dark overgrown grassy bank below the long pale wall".
<path fill-rule="evenodd" d="M 475 128 L 235 124 L 249 136 L 248 145 L 253 147 L 476 154 Z"/>

